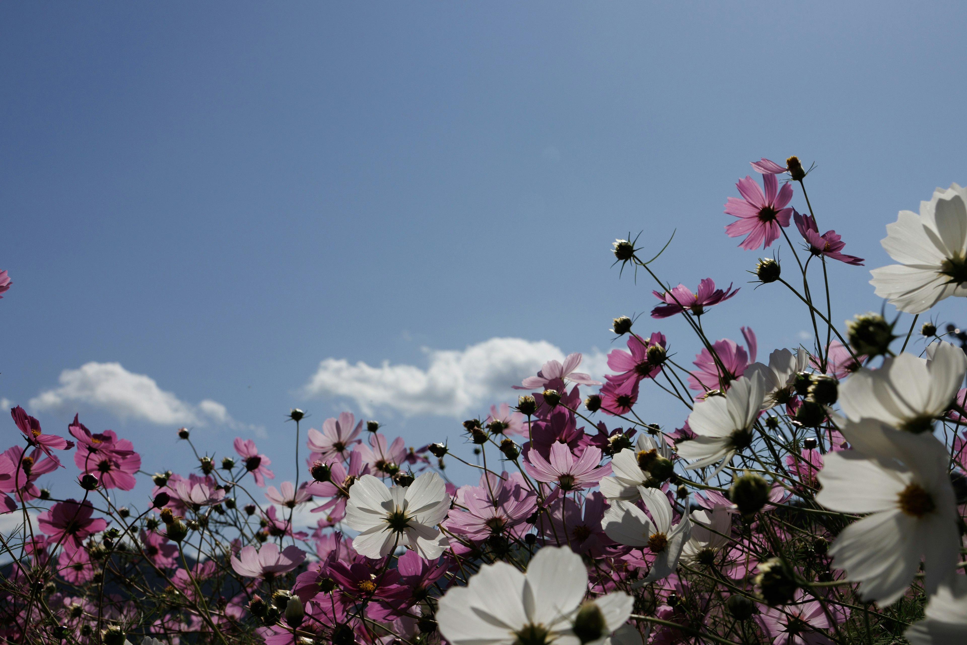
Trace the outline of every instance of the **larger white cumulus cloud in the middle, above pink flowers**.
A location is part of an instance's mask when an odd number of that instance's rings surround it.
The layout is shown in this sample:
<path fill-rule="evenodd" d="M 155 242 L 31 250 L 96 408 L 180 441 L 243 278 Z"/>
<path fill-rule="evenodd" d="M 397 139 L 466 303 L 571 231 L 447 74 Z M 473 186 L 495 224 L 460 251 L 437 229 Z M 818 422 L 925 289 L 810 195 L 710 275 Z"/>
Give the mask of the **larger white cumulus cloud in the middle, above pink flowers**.
<path fill-rule="evenodd" d="M 366 415 L 376 408 L 392 408 L 405 416 L 461 417 L 479 412 L 491 402 L 515 397 L 511 386 L 536 374 L 551 360 L 563 361 L 565 353 L 546 340 L 490 338 L 463 350 L 424 348 L 427 366 L 369 366 L 345 359 L 328 358 L 319 364 L 303 388 L 304 396 L 352 398 Z M 586 355 L 581 366 L 600 375 L 603 355 Z M 485 409 L 485 408 L 484 408 Z"/>

